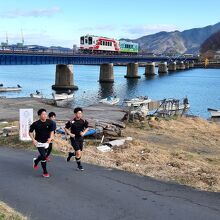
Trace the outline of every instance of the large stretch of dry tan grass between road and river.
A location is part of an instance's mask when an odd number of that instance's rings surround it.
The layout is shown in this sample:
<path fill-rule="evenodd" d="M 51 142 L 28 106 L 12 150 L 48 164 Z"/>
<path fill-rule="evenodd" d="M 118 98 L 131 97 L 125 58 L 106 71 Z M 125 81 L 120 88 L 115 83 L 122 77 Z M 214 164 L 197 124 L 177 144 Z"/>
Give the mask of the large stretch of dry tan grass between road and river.
<path fill-rule="evenodd" d="M 124 136 L 134 138 L 113 152 L 101 153 L 87 142 L 83 160 L 195 188 L 220 191 L 220 126 L 199 118 L 129 124 Z M 57 137 L 63 152 L 69 142 Z M 58 147 L 59 146 L 59 147 Z"/>

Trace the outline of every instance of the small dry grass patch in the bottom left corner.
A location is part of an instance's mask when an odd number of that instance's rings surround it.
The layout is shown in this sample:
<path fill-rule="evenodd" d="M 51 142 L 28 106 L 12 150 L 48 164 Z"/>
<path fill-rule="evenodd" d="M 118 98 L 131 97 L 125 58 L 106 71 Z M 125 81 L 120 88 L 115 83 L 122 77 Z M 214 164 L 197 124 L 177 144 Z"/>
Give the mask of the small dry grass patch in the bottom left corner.
<path fill-rule="evenodd" d="M 27 217 L 22 216 L 14 209 L 10 208 L 3 202 L 0 202 L 0 220 L 27 220 Z"/>

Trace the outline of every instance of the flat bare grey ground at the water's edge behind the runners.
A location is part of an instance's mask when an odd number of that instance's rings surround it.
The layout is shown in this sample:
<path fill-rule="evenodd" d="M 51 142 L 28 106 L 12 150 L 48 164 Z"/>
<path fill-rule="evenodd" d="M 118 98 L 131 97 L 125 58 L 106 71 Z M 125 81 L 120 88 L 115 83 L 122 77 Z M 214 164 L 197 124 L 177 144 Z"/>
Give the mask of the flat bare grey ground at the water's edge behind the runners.
<path fill-rule="evenodd" d="M 34 118 L 37 119 L 37 110 L 45 108 L 47 112 L 54 111 L 57 114 L 58 120 L 67 121 L 73 116 L 73 109 L 62 108 L 42 103 L 39 99 L 34 98 L 5 98 L 1 99 L 0 105 L 0 121 L 18 121 L 19 109 L 33 108 Z M 106 114 L 108 112 L 108 114 Z M 108 106 L 103 104 L 92 105 L 84 108 L 84 113 L 89 119 L 109 119 L 113 121 L 120 121 L 124 116 L 124 112 L 115 106 Z"/>

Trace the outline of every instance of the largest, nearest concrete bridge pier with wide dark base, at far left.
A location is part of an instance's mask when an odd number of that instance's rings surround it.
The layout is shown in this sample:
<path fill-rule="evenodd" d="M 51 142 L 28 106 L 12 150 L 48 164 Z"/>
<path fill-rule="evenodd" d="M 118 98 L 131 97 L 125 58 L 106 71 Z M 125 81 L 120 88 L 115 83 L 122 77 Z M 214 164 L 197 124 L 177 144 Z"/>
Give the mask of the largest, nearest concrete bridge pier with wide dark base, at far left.
<path fill-rule="evenodd" d="M 57 92 L 67 92 L 69 90 L 73 91 L 78 89 L 78 87 L 74 85 L 73 65 L 56 65 L 56 79 L 52 89 Z"/>

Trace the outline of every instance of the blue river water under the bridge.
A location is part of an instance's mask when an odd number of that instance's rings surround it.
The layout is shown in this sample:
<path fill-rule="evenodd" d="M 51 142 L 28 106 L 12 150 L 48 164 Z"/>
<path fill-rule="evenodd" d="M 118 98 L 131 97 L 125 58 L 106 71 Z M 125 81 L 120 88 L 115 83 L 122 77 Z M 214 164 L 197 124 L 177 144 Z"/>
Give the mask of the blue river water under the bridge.
<path fill-rule="evenodd" d="M 74 66 L 74 82 L 79 90 L 74 92 L 71 106 L 88 106 L 110 95 L 121 100 L 146 95 L 153 100 L 187 96 L 191 105 L 189 113 L 203 118 L 209 117 L 207 108 L 220 109 L 220 69 L 195 68 L 146 79 L 144 68 L 139 67 L 141 79 L 137 80 L 126 79 L 125 74 L 126 67 L 116 66 L 115 82 L 100 84 L 99 66 Z M 55 65 L 0 66 L 0 83 L 22 86 L 21 92 L 0 93 L 0 96 L 28 97 L 39 90 L 49 98 L 54 82 Z"/>

